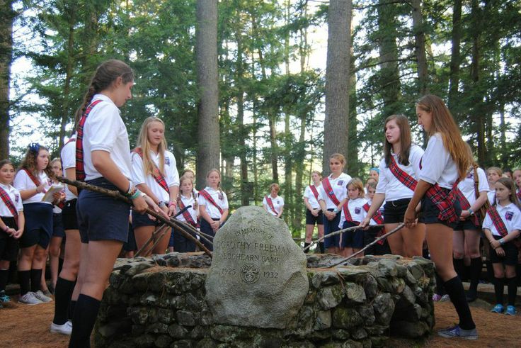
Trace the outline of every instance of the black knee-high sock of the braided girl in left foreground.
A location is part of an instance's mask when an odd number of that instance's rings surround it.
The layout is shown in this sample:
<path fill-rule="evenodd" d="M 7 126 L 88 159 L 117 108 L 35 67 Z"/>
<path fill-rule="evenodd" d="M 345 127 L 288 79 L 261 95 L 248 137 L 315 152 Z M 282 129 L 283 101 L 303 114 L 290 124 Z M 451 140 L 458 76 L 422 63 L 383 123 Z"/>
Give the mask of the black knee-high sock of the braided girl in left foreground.
<path fill-rule="evenodd" d="M 76 301 L 72 318 L 69 348 L 90 347 L 91 333 L 98 317 L 101 301 L 81 293 Z"/>

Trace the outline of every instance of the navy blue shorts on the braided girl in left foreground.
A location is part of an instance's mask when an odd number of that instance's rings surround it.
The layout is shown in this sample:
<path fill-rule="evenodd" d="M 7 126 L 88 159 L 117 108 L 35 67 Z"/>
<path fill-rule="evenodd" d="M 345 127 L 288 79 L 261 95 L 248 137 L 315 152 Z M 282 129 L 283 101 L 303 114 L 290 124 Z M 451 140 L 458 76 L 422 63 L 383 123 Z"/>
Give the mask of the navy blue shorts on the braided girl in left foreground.
<path fill-rule="evenodd" d="M 87 181 L 108 190 L 118 190 L 105 178 Z M 81 190 L 76 203 L 81 242 L 90 240 L 118 240 L 127 242 L 130 204 L 116 201 L 103 193 Z"/>

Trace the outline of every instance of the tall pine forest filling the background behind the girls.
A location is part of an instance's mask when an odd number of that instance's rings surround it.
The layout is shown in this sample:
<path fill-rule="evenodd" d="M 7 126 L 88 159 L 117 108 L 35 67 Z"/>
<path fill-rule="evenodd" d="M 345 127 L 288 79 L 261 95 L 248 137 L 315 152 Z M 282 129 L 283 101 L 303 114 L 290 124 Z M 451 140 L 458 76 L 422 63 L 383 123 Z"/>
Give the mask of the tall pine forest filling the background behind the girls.
<path fill-rule="evenodd" d="M 19 163 L 34 134 L 56 156 L 109 58 L 136 74 L 131 146 L 160 117 L 180 172 L 200 187 L 219 167 L 232 209 L 278 182 L 296 237 L 328 155 L 367 179 L 393 113 L 423 145 L 423 94 L 447 102 L 482 167 L 520 164 L 521 1 L 0 0 L 0 158 Z"/>

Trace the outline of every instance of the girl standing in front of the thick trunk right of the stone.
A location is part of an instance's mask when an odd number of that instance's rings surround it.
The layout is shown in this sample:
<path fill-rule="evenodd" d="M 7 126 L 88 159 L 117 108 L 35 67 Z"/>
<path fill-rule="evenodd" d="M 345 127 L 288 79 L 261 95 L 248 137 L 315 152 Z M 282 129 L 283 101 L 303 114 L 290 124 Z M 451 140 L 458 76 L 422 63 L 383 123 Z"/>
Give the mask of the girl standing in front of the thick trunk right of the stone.
<path fill-rule="evenodd" d="M 342 172 L 344 167 L 344 155 L 335 153 L 329 157 L 331 174 L 322 179 L 319 196 L 320 208 L 324 214 L 325 236 L 339 230 L 340 211 L 348 200 L 348 182 L 351 176 Z M 328 253 L 340 254 L 340 235 L 326 237 L 324 247 L 328 249 Z"/>

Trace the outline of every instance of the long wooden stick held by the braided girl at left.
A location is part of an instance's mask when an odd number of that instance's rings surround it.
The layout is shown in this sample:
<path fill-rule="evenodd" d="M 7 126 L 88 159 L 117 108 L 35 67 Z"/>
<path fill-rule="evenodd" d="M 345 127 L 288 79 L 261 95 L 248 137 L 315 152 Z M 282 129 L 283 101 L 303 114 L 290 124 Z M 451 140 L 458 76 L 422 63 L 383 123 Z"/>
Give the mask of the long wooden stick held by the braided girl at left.
<path fill-rule="evenodd" d="M 68 185 L 71 185 L 71 186 L 76 186 L 79 189 L 87 189 L 89 191 L 95 191 L 95 192 L 98 192 L 98 193 L 103 193 L 103 194 L 105 194 L 107 196 L 110 196 L 110 197 L 112 197 L 114 199 L 117 199 L 118 201 L 123 201 L 123 202 L 128 203 L 128 204 L 130 204 L 132 206 L 132 200 L 130 198 L 127 198 L 127 197 L 123 196 L 119 191 L 112 191 L 112 190 L 108 190 L 108 189 L 103 189 L 102 187 L 98 187 L 98 186 L 95 186 L 95 185 L 87 184 L 84 181 L 70 180 L 70 179 L 64 178 L 63 176 L 58 176 L 57 180 L 58 181 L 62 181 L 64 184 L 68 184 Z M 190 230 L 190 229 L 191 230 L 195 230 L 195 228 L 192 228 L 192 226 L 188 227 L 188 224 L 185 224 L 185 223 L 183 223 L 182 221 L 179 221 L 179 220 L 167 220 L 166 218 L 164 218 L 163 215 L 160 215 L 159 213 L 156 213 L 155 211 L 152 211 L 149 208 L 147 208 L 147 213 L 152 215 L 152 216 L 154 216 L 154 218 L 158 219 L 159 221 L 161 221 L 163 223 L 166 223 L 166 225 L 171 226 L 171 227 L 176 228 L 177 230 L 181 231 L 181 233 L 183 234 L 183 236 L 185 238 L 195 242 L 195 245 L 197 245 L 197 247 L 200 247 L 200 249 L 203 252 L 205 252 L 205 254 L 208 254 L 210 257 L 212 257 L 212 252 L 210 252 L 210 250 L 208 250 L 207 247 L 205 247 L 205 245 L 203 245 L 199 240 L 197 240 L 197 238 L 193 237 L 193 235 L 190 235 L 190 233 L 188 233 L 186 231 L 186 230 Z M 197 230 L 195 230 L 195 231 L 197 232 Z"/>

